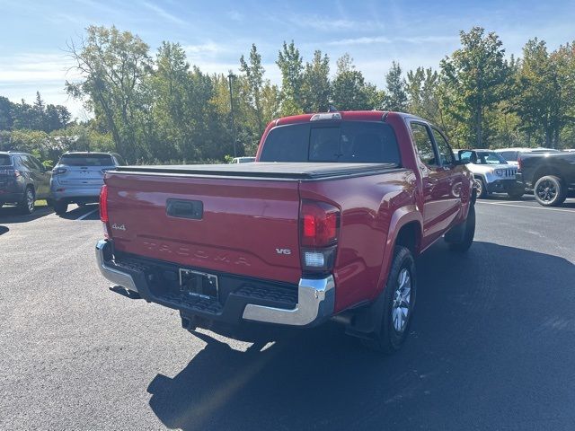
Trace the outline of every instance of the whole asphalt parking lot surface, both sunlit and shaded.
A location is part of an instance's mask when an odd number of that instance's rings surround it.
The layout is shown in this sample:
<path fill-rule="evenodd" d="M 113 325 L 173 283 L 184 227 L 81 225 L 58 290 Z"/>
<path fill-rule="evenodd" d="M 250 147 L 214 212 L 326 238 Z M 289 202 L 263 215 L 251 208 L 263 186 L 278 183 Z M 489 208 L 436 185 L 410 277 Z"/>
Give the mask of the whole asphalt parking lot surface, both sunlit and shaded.
<path fill-rule="evenodd" d="M 0 429 L 575 429 L 575 199 L 477 204 L 465 256 L 418 260 L 411 337 L 329 323 L 265 345 L 108 290 L 97 206 L 0 209 Z"/>

